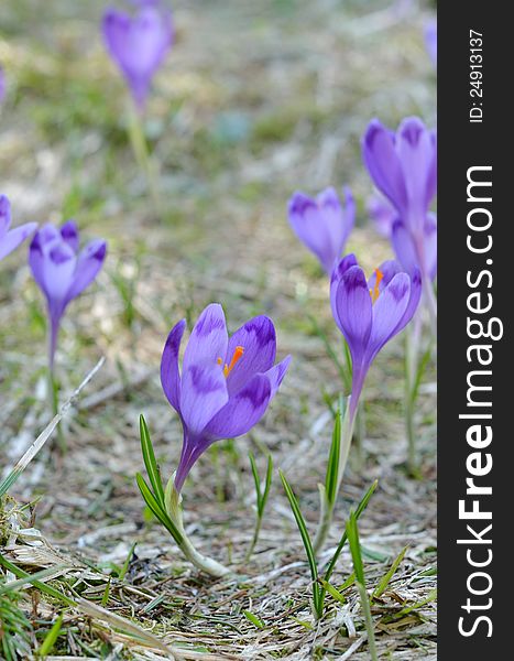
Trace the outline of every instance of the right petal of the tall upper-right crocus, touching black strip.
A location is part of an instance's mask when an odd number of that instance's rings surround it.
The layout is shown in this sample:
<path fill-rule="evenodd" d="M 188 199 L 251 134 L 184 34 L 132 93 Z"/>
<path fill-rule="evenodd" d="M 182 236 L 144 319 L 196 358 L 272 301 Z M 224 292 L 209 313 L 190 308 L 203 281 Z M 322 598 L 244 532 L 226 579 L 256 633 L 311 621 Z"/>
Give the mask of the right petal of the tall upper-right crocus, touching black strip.
<path fill-rule="evenodd" d="M 417 117 L 402 121 L 397 131 L 397 153 L 408 198 L 408 221 L 422 227 L 435 192 L 435 139 Z"/>

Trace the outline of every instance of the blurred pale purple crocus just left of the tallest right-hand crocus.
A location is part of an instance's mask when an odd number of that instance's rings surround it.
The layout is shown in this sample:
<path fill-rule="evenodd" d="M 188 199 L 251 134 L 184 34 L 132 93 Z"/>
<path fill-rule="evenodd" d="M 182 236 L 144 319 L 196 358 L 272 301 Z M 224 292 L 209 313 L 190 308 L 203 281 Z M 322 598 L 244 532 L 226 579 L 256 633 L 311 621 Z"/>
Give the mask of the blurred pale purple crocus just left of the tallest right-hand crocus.
<path fill-rule="evenodd" d="M 298 239 L 318 258 L 328 275 L 340 259 L 356 220 L 356 203 L 345 188 L 346 208 L 335 188 L 317 197 L 296 192 L 288 203 L 289 224 Z"/>

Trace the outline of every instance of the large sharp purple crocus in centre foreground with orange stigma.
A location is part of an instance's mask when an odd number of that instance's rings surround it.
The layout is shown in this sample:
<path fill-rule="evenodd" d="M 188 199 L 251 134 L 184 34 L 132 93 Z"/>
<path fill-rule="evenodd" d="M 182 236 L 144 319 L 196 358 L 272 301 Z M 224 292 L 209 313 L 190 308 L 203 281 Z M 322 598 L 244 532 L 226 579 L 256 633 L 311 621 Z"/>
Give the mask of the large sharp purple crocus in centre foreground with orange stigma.
<path fill-rule="evenodd" d="M 167 337 L 161 362 L 164 393 L 181 416 L 184 444 L 175 489 L 197 458 L 220 438 L 245 434 L 264 415 L 289 365 L 275 362 L 276 336 L 266 316 L 247 322 L 229 338 L 221 305 L 200 314 L 178 369 L 178 351 L 186 327 L 183 319 Z"/>

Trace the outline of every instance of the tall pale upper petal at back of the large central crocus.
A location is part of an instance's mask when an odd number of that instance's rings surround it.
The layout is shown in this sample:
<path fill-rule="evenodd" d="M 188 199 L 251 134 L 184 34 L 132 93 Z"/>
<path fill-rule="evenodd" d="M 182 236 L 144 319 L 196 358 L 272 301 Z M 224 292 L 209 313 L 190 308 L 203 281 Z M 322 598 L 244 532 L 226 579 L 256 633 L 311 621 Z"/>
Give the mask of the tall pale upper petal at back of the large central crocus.
<path fill-rule="evenodd" d="M 200 314 L 193 328 L 184 353 L 183 371 L 194 364 L 222 362 L 227 355 L 227 346 L 228 333 L 223 308 L 218 303 L 211 303 Z"/>

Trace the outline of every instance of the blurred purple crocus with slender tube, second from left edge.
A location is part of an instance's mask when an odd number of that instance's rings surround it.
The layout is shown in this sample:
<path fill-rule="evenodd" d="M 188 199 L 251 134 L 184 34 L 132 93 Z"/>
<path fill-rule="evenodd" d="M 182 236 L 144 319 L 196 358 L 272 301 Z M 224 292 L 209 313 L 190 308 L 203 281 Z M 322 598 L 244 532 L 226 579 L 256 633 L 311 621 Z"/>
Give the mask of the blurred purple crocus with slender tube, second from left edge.
<path fill-rule="evenodd" d="M 67 305 L 97 277 L 107 253 L 102 239 L 89 241 L 80 251 L 74 220 L 61 229 L 44 225 L 32 239 L 29 263 L 48 306 L 50 366 L 53 369 L 61 317 Z"/>

